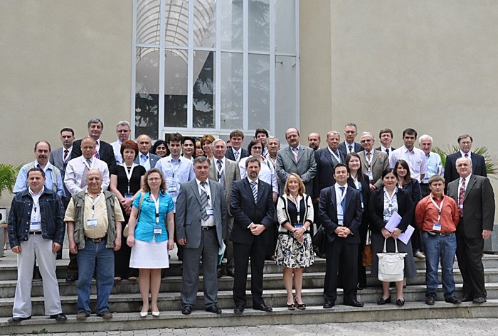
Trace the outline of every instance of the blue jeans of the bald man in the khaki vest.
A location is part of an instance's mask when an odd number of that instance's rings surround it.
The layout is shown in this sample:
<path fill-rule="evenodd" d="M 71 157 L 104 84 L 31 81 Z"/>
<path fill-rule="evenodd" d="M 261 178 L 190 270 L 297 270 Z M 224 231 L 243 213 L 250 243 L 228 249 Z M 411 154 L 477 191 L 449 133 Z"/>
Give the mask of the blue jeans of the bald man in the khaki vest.
<path fill-rule="evenodd" d="M 78 250 L 78 313 L 90 310 L 92 276 L 97 274 L 97 307 L 95 312 L 109 310 L 109 295 L 114 285 L 114 251 L 106 249 L 107 240 L 100 243 L 85 242 L 85 249 Z"/>

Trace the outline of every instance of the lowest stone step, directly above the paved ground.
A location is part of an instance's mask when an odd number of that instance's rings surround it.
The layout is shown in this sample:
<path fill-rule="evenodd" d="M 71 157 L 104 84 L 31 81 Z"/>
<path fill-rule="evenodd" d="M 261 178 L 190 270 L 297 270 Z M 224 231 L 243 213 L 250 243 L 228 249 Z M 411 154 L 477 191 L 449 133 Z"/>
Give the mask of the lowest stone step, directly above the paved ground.
<path fill-rule="evenodd" d="M 395 320 L 425 320 L 438 318 L 496 318 L 498 300 L 489 299 L 481 305 L 436 302 L 429 306 L 420 302 L 407 301 L 402 308 L 396 305 L 376 305 L 366 303 L 364 308 L 352 308 L 336 305 L 332 309 L 323 309 L 322 304 L 307 306 L 306 310 L 287 310 L 274 308 L 272 313 L 246 309 L 242 315 L 233 314 L 225 308 L 221 315 L 194 310 L 191 315 L 182 315 L 179 311 L 161 313 L 158 318 L 151 315 L 140 318 L 138 313 L 115 313 L 112 320 L 102 320 L 91 315 L 85 322 L 78 322 L 75 315 L 68 315 L 65 323 L 56 323 L 43 316 L 35 316 L 22 323 L 7 323 L 7 318 L 0 318 L 1 333 L 4 335 L 35 334 L 48 332 L 110 332 L 116 330 L 143 330 L 155 328 L 186 327 L 235 327 L 247 325 L 279 325 L 321 323 L 351 323 Z M 408 334 L 409 335 L 409 334 Z"/>

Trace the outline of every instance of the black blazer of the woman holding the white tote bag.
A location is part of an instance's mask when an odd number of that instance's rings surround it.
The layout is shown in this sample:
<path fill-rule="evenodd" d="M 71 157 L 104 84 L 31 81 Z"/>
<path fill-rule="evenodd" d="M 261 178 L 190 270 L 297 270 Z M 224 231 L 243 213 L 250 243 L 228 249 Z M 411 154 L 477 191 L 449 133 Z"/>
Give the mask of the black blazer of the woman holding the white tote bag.
<path fill-rule="evenodd" d="M 413 202 L 411 196 L 406 190 L 398 189 L 396 194 L 398 199 L 398 215 L 401 216 L 401 222 L 398 224 L 398 229 L 404 232 L 410 224 L 413 217 Z M 381 229 L 386 226 L 384 224 L 384 188 L 373 191 L 369 200 L 369 217 L 370 229 L 373 232 L 381 232 Z"/>

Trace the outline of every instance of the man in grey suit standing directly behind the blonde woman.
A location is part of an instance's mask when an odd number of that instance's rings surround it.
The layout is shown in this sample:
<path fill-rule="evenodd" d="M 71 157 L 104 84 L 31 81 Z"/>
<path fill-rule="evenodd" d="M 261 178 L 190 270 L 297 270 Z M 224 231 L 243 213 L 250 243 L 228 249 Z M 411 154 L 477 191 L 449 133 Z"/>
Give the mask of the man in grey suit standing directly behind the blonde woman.
<path fill-rule="evenodd" d="M 280 193 L 283 193 L 287 177 L 291 173 L 296 173 L 300 175 L 304 187 L 306 187 L 306 193 L 313 195 L 313 178 L 317 173 L 314 151 L 312 148 L 300 144 L 300 133 L 293 127 L 285 131 L 285 139 L 289 146 L 277 152 L 275 163 L 275 173 L 280 178 Z"/>

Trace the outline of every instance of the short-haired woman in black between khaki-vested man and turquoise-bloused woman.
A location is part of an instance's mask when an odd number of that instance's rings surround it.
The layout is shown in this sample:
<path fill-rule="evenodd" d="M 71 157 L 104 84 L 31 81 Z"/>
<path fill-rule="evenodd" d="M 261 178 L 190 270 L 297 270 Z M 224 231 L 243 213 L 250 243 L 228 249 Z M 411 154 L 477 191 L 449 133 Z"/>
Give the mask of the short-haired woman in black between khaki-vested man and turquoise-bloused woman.
<path fill-rule="evenodd" d="M 132 202 L 137 197 L 142 185 L 144 184 L 145 168 L 134 163 L 139 150 L 137 143 L 133 140 L 123 141 L 121 143 L 121 156 L 123 163 L 112 166 L 110 169 L 111 183 L 110 190 L 115 193 L 117 200 L 120 201 L 121 210 L 124 215 L 124 223 L 129 221 L 129 214 L 132 212 Z M 126 237 L 122 236 L 122 242 Z M 114 252 L 114 279 L 120 281 L 127 278 L 130 281 L 137 280 L 137 271 L 129 269 L 129 256 L 131 249 L 126 244 L 122 244 L 121 249 Z"/>

